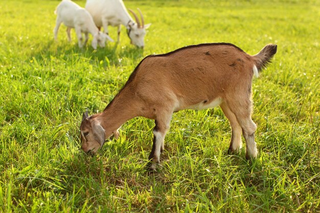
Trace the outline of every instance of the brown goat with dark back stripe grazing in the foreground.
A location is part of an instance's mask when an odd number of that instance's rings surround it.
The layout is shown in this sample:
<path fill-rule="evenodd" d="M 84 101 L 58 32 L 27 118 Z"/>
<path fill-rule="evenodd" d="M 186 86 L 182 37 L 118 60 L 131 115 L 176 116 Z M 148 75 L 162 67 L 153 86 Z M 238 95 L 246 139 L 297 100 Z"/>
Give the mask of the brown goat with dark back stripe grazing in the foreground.
<path fill-rule="evenodd" d="M 266 45 L 250 56 L 230 43 L 191 45 L 163 55 L 144 58 L 103 112 L 83 114 L 81 148 L 95 154 L 112 133 L 136 116 L 155 120 L 150 169 L 155 170 L 172 113 L 220 105 L 232 128 L 229 152 L 246 141 L 246 158 L 256 158 L 256 124 L 252 114 L 252 79 L 277 52 Z"/>

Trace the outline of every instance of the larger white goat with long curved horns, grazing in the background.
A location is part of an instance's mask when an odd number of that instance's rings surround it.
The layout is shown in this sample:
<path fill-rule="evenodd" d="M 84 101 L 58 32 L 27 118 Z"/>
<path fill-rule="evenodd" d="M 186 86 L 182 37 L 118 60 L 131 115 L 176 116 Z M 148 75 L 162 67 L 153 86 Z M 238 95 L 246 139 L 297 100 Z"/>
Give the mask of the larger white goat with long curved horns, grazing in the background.
<path fill-rule="evenodd" d="M 133 21 L 122 0 L 87 0 L 85 9 L 92 15 L 98 28 L 103 27 L 106 34 L 108 34 L 109 25 L 113 27 L 118 26 L 118 42 L 120 41 L 122 24 L 127 29 L 131 43 L 140 48 L 144 47 L 146 29 L 149 28 L 151 23 L 144 24 L 144 18 L 139 9 L 141 23 L 138 16 L 129 9 L 134 15 L 136 23 Z"/>

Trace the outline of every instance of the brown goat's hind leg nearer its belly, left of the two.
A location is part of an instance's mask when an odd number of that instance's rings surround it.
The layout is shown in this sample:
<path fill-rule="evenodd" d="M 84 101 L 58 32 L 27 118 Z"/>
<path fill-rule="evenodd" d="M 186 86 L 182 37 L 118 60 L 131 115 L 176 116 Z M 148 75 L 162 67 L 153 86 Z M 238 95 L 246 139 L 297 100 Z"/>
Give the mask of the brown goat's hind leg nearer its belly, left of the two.
<path fill-rule="evenodd" d="M 220 105 L 220 107 L 224 115 L 229 120 L 231 129 L 232 129 L 231 142 L 230 142 L 230 147 L 228 149 L 228 153 L 229 154 L 232 152 L 238 153 L 239 150 L 242 148 L 242 139 L 241 139 L 242 128 L 237 121 L 236 115 L 230 110 L 230 108 L 225 102 L 223 102 Z"/>

